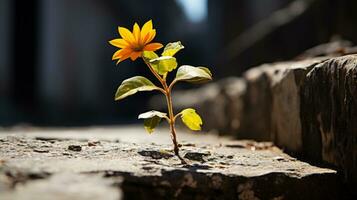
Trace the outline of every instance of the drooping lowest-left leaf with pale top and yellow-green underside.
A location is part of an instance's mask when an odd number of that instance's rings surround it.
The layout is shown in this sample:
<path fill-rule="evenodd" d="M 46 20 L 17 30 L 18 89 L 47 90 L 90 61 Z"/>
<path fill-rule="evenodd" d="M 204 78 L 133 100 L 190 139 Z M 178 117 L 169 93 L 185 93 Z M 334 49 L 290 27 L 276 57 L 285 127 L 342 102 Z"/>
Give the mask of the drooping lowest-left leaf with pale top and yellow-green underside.
<path fill-rule="evenodd" d="M 145 119 L 144 128 L 149 134 L 151 134 L 152 132 L 154 132 L 155 127 L 160 123 L 161 118 L 167 118 L 167 115 L 166 113 L 152 110 L 140 114 L 138 118 Z"/>

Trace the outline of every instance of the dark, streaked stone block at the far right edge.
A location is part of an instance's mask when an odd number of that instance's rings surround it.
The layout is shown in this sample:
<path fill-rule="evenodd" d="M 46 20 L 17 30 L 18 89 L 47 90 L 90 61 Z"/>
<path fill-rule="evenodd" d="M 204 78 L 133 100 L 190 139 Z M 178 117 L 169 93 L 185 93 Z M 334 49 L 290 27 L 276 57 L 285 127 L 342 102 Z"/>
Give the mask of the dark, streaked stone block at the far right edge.
<path fill-rule="evenodd" d="M 318 64 L 302 91 L 304 154 L 341 167 L 357 184 L 357 56 Z"/>

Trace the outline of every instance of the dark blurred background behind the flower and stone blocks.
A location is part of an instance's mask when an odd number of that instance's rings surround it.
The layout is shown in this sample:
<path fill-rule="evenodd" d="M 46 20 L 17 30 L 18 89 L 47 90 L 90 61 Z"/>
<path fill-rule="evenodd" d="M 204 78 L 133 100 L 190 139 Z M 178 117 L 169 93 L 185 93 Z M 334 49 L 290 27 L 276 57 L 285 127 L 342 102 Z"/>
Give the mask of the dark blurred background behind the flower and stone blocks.
<path fill-rule="evenodd" d="M 355 0 L 0 0 L 0 126 L 138 122 L 152 93 L 121 102 L 114 94 L 150 73 L 141 60 L 111 60 L 119 25 L 152 19 L 155 41 L 186 46 L 179 64 L 208 66 L 219 80 L 322 43 L 356 43 L 355 8 Z"/>

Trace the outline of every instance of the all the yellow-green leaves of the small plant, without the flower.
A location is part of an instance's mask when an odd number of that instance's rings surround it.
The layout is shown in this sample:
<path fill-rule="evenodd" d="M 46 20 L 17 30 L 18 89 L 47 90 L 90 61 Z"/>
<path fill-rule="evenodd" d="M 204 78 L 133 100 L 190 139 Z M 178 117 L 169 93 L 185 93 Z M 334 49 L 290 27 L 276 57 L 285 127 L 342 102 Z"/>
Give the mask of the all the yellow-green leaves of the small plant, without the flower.
<path fill-rule="evenodd" d="M 135 76 L 133 78 L 126 79 L 119 86 L 116 94 L 115 100 L 123 99 L 127 96 L 133 95 L 139 91 L 151 91 L 151 90 L 161 90 L 165 95 L 167 92 L 171 93 L 171 88 L 166 84 L 166 76 L 169 72 L 177 68 L 176 58 L 173 57 L 177 52 L 184 49 L 184 46 L 180 41 L 168 43 L 161 56 L 158 56 L 153 51 L 143 51 L 142 58 L 146 64 L 148 64 L 152 69 L 153 73 L 156 73 L 163 77 L 162 80 L 159 79 L 163 88 L 155 86 L 150 80 L 142 76 Z M 176 82 L 185 81 L 189 83 L 203 83 L 212 80 L 212 73 L 206 67 L 193 67 L 190 65 L 183 65 L 178 68 L 176 77 L 171 83 L 174 85 Z M 166 88 L 166 89 L 165 89 Z M 169 89 L 167 91 L 167 89 Z M 168 100 L 171 101 L 171 100 Z M 169 104 L 169 102 L 167 102 Z M 169 105 L 172 105 L 170 102 Z M 149 111 L 142 113 L 138 116 L 139 119 L 144 119 L 144 128 L 148 133 L 154 132 L 156 126 L 164 118 L 168 123 L 174 123 L 176 117 L 172 118 L 173 111 L 172 107 L 169 108 L 170 117 L 166 113 L 159 111 Z M 191 130 L 199 131 L 202 126 L 202 119 L 192 108 L 187 108 L 181 111 L 176 116 L 181 116 L 183 123 Z"/>

